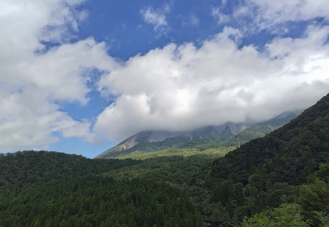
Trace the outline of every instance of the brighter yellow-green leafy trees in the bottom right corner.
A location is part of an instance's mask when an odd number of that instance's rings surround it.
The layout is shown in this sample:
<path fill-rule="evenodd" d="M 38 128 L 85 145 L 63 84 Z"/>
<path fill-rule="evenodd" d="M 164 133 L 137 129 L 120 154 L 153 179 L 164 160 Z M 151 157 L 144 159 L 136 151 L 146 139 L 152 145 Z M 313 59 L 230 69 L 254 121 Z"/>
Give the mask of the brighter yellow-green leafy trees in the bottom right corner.
<path fill-rule="evenodd" d="M 250 218 L 242 226 L 329 226 L 329 162 L 308 178 L 308 184 L 299 187 L 296 202 L 281 204 Z"/>

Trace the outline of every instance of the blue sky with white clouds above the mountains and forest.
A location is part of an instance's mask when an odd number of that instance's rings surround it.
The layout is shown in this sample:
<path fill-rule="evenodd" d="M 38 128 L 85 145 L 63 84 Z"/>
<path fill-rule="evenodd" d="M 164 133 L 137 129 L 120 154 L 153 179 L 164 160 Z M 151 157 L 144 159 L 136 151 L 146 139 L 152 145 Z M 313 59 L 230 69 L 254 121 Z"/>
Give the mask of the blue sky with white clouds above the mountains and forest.
<path fill-rule="evenodd" d="M 94 157 L 329 92 L 327 0 L 1 0 L 0 50 L 0 152 Z"/>

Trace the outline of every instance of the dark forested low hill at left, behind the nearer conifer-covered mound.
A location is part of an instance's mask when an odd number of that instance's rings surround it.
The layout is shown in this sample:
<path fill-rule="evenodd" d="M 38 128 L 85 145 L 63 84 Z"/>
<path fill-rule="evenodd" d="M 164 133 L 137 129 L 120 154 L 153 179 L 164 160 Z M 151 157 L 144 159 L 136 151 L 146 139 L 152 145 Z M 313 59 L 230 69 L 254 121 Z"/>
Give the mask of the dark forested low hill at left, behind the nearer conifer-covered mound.
<path fill-rule="evenodd" d="M 100 174 L 140 161 L 88 159 L 81 155 L 47 151 L 0 153 L 0 191 L 13 186 L 47 182 L 63 176 Z"/>

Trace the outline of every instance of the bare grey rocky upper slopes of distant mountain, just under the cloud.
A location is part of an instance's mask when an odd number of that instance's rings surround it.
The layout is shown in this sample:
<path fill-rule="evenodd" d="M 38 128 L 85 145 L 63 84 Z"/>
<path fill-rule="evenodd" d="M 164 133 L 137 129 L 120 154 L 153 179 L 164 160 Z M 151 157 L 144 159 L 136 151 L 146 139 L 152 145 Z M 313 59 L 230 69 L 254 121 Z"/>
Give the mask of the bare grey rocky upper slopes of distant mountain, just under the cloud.
<path fill-rule="evenodd" d="M 168 131 L 146 131 L 137 133 L 134 136 L 127 138 L 118 145 L 104 151 L 95 158 L 110 158 L 116 157 L 120 154 L 125 154 L 128 149 L 135 147 L 130 151 L 136 151 L 137 149 L 145 149 L 147 151 L 153 151 L 157 149 L 165 149 L 168 147 L 178 147 L 184 142 L 188 142 L 191 138 L 205 138 L 216 137 L 220 141 L 224 141 L 234 134 L 243 131 L 248 125 L 246 124 L 234 124 L 231 122 L 225 123 L 221 126 L 207 126 L 198 128 L 196 130 L 183 131 L 183 132 L 168 132 Z M 175 139 L 170 139 L 174 138 Z M 153 143 L 162 142 L 162 143 Z M 177 143 L 174 143 L 177 142 Z M 152 144 L 150 144 L 152 143 Z M 184 143 L 185 144 L 185 143 Z M 137 146 L 139 145 L 139 146 Z M 151 148 L 149 148 L 151 147 Z"/>

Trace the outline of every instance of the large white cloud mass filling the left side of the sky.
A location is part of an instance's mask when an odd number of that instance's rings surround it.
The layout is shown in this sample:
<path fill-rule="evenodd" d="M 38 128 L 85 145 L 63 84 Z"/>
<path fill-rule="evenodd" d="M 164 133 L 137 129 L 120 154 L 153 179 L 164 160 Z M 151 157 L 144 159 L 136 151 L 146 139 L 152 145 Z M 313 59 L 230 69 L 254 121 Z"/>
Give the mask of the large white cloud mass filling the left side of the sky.
<path fill-rule="evenodd" d="M 86 104 L 89 69 L 113 68 L 104 43 L 93 38 L 65 41 L 86 18 L 86 12 L 77 10 L 82 2 L 0 3 L 1 151 L 47 147 L 58 136 L 94 141 L 90 122 L 75 121 L 56 104 Z M 41 41 L 61 44 L 47 49 Z"/>

